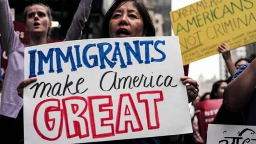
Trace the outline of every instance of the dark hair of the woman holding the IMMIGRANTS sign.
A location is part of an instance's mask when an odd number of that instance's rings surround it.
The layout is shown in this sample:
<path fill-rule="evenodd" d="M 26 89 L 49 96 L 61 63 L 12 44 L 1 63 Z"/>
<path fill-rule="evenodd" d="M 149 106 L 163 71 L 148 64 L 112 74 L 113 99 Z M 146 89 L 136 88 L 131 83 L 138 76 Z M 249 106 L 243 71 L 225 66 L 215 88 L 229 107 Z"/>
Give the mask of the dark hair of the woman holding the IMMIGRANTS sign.
<path fill-rule="evenodd" d="M 129 1 L 134 2 L 135 6 L 139 10 L 139 13 L 141 14 L 144 24 L 143 33 L 145 36 L 156 36 L 152 18 L 150 17 L 145 4 L 141 0 L 115 0 L 104 16 L 104 20 L 102 22 L 102 38 L 109 38 L 109 21 L 111 20 L 114 11 L 120 6 L 121 3 Z"/>

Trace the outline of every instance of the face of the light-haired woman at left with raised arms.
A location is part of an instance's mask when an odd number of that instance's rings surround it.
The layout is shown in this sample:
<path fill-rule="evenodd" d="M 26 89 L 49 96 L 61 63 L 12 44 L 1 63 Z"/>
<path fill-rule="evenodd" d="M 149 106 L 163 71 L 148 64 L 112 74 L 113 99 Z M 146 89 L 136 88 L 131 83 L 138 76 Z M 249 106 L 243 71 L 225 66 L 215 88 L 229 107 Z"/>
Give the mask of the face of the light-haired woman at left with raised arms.
<path fill-rule="evenodd" d="M 39 36 L 41 34 L 47 34 L 48 29 L 51 27 L 52 25 L 45 7 L 34 5 L 28 8 L 26 30 L 28 30 L 30 35 Z"/>

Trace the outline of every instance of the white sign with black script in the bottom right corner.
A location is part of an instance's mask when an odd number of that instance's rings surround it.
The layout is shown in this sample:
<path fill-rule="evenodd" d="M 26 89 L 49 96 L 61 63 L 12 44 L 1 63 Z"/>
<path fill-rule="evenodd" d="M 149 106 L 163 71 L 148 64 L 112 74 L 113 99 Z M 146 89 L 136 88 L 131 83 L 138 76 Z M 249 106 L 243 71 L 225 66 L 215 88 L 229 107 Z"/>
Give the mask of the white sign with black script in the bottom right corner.
<path fill-rule="evenodd" d="M 207 144 L 256 144 L 256 126 L 209 124 Z"/>

